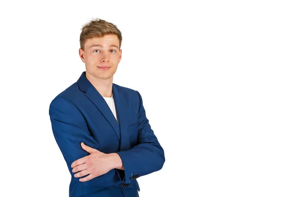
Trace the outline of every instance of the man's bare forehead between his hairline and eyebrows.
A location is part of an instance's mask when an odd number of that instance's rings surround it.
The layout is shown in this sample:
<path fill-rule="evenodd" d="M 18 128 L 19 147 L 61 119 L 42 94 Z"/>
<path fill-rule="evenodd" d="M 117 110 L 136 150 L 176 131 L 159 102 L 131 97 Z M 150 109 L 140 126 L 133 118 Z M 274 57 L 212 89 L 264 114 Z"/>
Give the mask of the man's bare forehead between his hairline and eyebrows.
<path fill-rule="evenodd" d="M 91 47 L 92 45 L 95 45 L 95 44 L 101 44 L 104 47 L 105 46 L 108 47 L 110 44 L 115 44 L 119 46 L 119 39 L 117 38 L 116 35 L 105 35 L 104 37 L 87 39 L 85 41 L 86 47 Z"/>

